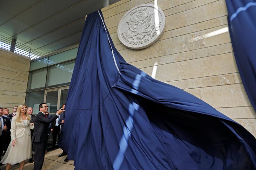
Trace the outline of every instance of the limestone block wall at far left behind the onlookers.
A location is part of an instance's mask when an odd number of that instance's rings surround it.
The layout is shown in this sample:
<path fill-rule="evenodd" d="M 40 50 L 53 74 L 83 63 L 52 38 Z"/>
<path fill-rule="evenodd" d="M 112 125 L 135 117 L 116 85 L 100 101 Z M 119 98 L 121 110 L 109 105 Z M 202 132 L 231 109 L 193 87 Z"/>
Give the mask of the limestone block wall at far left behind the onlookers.
<path fill-rule="evenodd" d="M 24 104 L 30 59 L 0 48 L 0 107 Z"/>

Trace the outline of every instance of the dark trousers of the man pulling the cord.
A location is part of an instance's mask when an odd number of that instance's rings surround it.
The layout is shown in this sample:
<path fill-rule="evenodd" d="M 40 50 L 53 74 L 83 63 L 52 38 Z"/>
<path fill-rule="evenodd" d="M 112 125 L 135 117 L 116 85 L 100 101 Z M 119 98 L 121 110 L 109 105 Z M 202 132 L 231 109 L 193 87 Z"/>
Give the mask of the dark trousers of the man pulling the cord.
<path fill-rule="evenodd" d="M 41 170 L 44 164 L 46 142 L 33 142 L 33 147 L 35 151 L 34 170 Z"/>

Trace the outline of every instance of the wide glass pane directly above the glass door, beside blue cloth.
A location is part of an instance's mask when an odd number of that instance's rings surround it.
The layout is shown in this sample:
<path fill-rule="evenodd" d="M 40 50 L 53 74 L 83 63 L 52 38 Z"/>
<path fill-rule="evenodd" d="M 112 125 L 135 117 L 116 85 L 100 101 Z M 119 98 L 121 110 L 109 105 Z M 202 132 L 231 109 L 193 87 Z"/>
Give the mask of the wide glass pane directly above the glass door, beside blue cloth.
<path fill-rule="evenodd" d="M 69 85 L 74 70 L 75 61 L 48 67 L 46 88 Z"/>

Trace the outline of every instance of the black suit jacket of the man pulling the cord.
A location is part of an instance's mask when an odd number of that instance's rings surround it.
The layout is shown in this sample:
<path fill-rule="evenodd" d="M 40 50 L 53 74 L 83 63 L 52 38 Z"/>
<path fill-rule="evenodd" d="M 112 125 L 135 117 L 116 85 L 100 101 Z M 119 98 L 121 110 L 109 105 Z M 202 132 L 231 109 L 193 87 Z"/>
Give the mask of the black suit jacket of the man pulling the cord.
<path fill-rule="evenodd" d="M 57 115 L 45 117 L 42 112 L 39 112 L 32 120 L 32 122 L 34 122 L 32 142 L 46 142 L 48 139 L 49 123 L 53 122 L 57 118 Z"/>

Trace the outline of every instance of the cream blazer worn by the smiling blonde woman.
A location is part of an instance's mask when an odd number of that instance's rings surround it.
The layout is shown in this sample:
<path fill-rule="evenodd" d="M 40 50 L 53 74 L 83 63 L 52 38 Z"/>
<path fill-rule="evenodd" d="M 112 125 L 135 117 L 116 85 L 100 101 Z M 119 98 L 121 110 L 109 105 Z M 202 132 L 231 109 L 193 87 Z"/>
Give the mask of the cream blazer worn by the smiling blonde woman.
<path fill-rule="evenodd" d="M 27 120 L 27 124 L 26 126 L 24 126 L 24 123 L 22 121 L 22 119 L 20 119 L 21 122 L 16 122 L 16 119 L 18 118 L 18 116 L 13 116 L 12 117 L 12 122 L 11 122 L 11 138 L 12 141 L 14 139 L 23 137 L 24 134 L 31 136 L 31 132 L 29 129 L 29 123 L 30 121 Z"/>

